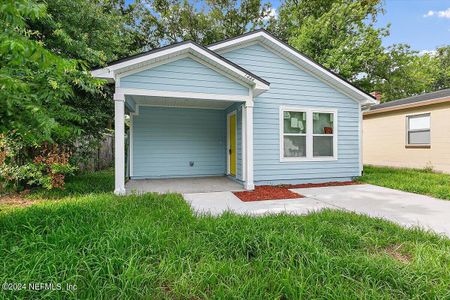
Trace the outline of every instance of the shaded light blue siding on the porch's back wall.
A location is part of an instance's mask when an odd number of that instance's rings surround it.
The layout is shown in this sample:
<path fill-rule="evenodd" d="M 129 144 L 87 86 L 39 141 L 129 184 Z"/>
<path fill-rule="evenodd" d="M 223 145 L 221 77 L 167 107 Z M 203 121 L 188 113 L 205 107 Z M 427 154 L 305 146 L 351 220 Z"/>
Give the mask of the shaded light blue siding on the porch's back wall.
<path fill-rule="evenodd" d="M 133 116 L 132 178 L 224 175 L 225 149 L 224 110 L 140 106 Z"/>

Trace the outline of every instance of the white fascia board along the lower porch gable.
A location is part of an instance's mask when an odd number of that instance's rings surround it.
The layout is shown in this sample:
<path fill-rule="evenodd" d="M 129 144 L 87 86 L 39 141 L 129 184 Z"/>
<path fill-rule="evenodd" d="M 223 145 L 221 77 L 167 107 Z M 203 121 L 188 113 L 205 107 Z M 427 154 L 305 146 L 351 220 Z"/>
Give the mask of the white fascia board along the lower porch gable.
<path fill-rule="evenodd" d="M 248 73 L 242 71 L 241 69 L 233 66 L 230 63 L 216 57 L 215 55 L 205 51 L 204 49 L 198 47 L 193 43 L 185 43 L 179 46 L 174 46 L 166 50 L 158 51 L 155 53 L 149 53 L 148 55 L 136 57 L 135 59 L 130 59 L 121 63 L 113 64 L 103 69 L 92 71 L 92 75 L 97 78 L 108 78 L 115 80 L 117 76 L 120 76 L 122 72 L 129 71 L 133 66 L 142 66 L 146 62 L 153 62 L 156 60 L 165 60 L 174 56 L 182 55 L 185 53 L 190 53 L 200 59 L 203 59 L 207 63 L 216 65 L 224 69 L 230 76 L 239 79 L 241 82 L 257 87 L 260 90 L 268 90 L 269 85 L 265 82 L 252 77 Z M 127 72 L 128 73 L 128 72 Z"/>

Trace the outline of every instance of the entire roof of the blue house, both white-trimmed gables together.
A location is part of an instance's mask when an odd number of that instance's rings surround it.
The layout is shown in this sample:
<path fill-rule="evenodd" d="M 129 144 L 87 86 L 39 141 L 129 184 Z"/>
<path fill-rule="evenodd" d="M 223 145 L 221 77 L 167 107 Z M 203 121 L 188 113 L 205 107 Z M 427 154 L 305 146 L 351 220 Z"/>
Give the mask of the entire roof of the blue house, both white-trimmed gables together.
<path fill-rule="evenodd" d="M 133 69 L 142 68 L 145 67 L 145 65 L 150 65 L 152 62 L 163 61 L 164 59 L 170 59 L 177 55 L 189 53 L 189 55 L 196 56 L 211 63 L 213 66 L 219 67 L 231 77 L 253 86 L 254 95 L 259 95 L 269 89 L 270 83 L 219 54 L 220 52 L 225 52 L 251 42 L 261 42 L 276 50 L 292 62 L 300 65 L 308 72 L 316 75 L 362 104 L 377 103 L 372 95 L 354 86 L 346 79 L 315 62 L 305 54 L 300 53 L 298 50 L 279 40 L 264 29 L 251 31 L 237 37 L 211 44 L 207 47 L 203 47 L 193 41 L 175 43 L 113 61 L 106 67 L 92 70 L 91 73 L 94 77 L 114 82 L 117 76 L 123 76 L 124 73 L 129 74 Z"/>

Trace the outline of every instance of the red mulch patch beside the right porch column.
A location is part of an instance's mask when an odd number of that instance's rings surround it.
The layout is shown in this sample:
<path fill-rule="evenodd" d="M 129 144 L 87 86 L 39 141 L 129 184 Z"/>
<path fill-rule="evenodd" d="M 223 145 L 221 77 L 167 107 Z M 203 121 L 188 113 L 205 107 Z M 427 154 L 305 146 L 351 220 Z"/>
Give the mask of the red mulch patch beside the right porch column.
<path fill-rule="evenodd" d="M 263 200 L 281 200 L 281 199 L 298 199 L 305 196 L 294 193 L 285 187 L 272 185 L 259 185 L 253 191 L 234 192 L 241 201 L 263 201 Z"/>

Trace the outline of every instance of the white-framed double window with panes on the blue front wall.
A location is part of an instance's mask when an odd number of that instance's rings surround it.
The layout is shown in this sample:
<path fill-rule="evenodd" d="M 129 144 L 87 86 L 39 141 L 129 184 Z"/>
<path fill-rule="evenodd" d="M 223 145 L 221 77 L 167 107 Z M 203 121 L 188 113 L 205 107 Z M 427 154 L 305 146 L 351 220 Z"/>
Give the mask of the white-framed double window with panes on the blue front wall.
<path fill-rule="evenodd" d="M 280 108 L 280 160 L 333 160 L 337 157 L 337 112 Z"/>

